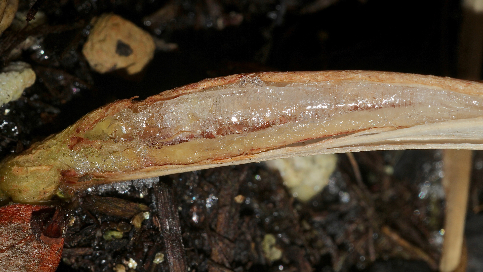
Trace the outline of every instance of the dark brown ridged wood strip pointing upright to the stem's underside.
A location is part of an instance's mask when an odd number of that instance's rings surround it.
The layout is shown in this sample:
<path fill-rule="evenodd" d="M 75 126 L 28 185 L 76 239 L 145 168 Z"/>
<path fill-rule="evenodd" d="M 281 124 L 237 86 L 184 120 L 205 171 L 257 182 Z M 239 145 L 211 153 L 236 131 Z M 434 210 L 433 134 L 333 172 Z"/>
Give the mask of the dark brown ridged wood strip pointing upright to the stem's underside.
<path fill-rule="evenodd" d="M 163 182 L 154 186 L 159 228 L 163 235 L 170 272 L 186 272 L 185 249 L 181 237 L 180 219 L 174 207 L 170 188 Z"/>

